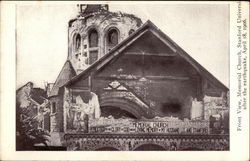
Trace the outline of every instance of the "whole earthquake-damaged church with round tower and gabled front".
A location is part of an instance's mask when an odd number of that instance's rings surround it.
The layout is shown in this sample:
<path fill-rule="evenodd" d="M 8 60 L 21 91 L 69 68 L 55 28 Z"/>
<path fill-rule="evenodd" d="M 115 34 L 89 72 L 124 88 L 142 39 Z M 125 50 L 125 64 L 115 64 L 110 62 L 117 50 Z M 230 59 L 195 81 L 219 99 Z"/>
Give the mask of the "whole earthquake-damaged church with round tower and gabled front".
<path fill-rule="evenodd" d="M 229 150 L 228 88 L 151 21 L 79 5 L 51 91 L 51 145 Z"/>

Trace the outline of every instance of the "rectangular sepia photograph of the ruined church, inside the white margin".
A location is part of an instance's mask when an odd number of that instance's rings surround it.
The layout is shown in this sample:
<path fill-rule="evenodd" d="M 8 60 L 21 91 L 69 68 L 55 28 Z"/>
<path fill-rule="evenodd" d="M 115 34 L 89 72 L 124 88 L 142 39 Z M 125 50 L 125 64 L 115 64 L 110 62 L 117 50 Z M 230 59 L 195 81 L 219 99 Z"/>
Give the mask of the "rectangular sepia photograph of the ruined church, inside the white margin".
<path fill-rule="evenodd" d="M 228 4 L 16 5 L 17 151 L 229 151 Z"/>

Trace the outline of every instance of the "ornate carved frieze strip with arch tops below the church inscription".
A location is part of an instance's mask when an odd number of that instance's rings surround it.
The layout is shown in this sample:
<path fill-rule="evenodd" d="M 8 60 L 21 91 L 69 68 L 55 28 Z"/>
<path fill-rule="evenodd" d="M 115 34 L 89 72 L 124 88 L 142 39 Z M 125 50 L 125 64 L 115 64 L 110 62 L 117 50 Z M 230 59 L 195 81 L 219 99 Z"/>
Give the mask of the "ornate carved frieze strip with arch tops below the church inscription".
<path fill-rule="evenodd" d="M 84 138 L 69 137 L 67 138 L 67 150 L 97 150 L 105 147 L 112 147 L 117 150 L 133 151 L 138 147 L 148 144 L 158 145 L 162 150 L 178 151 L 178 150 L 229 150 L 228 138 Z"/>

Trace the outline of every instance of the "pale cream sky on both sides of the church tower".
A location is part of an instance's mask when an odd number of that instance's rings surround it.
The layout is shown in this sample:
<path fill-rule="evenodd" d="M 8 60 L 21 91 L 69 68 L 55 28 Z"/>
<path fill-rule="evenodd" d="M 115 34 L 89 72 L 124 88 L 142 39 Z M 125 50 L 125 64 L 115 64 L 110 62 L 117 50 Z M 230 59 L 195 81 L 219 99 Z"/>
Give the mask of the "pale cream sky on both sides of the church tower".
<path fill-rule="evenodd" d="M 126 2 L 124 2 L 126 3 Z M 218 80 L 229 86 L 229 7 L 223 4 L 110 4 L 109 10 L 152 21 Z M 55 82 L 68 52 L 76 4 L 17 5 L 17 88 Z"/>

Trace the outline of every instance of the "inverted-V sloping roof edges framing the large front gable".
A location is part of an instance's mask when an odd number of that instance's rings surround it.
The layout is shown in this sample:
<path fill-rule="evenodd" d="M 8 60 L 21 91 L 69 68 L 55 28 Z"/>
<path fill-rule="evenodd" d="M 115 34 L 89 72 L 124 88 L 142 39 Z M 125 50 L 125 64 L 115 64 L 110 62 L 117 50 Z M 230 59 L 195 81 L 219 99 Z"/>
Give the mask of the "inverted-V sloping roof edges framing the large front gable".
<path fill-rule="evenodd" d="M 84 77 L 92 70 L 99 70 L 105 64 L 110 62 L 113 58 L 120 55 L 124 49 L 126 49 L 128 46 L 130 46 L 133 42 L 135 42 L 138 38 L 140 38 L 147 32 L 153 33 L 157 38 L 159 38 L 163 43 L 165 43 L 174 53 L 178 54 L 180 57 L 188 61 L 197 70 L 197 72 L 199 72 L 206 79 L 218 84 L 222 89 L 228 90 L 228 88 L 223 83 L 221 83 L 217 78 L 215 78 L 210 72 L 208 72 L 202 65 L 200 65 L 196 60 L 194 60 L 190 55 L 188 55 L 180 46 L 178 46 L 173 40 L 171 40 L 167 35 L 165 35 L 149 20 L 146 23 L 144 23 L 143 26 L 137 29 L 133 34 L 131 34 L 128 38 L 123 40 L 111 51 L 109 51 L 106 55 L 104 55 L 102 58 L 93 63 L 82 73 L 73 77 L 64 85 L 65 86 L 70 85 L 71 83 L 77 81 L 81 77 Z"/>

